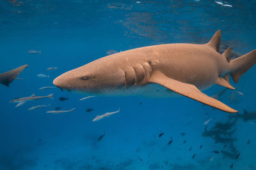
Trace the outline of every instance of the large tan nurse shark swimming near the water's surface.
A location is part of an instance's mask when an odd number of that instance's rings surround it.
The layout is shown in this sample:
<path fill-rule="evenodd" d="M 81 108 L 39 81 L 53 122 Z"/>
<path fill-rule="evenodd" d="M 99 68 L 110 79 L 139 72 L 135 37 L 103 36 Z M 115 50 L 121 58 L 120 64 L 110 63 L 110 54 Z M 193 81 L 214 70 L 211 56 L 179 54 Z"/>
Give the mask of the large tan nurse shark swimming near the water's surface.
<path fill-rule="evenodd" d="M 222 55 L 218 53 L 220 39 L 219 30 L 204 45 L 154 45 L 115 53 L 61 74 L 53 83 L 61 89 L 92 93 L 156 83 L 219 110 L 235 113 L 236 110 L 199 89 L 214 84 L 234 89 L 229 83 L 229 74 L 237 82 L 241 74 L 255 64 L 256 50 L 230 60 L 231 48 Z"/>

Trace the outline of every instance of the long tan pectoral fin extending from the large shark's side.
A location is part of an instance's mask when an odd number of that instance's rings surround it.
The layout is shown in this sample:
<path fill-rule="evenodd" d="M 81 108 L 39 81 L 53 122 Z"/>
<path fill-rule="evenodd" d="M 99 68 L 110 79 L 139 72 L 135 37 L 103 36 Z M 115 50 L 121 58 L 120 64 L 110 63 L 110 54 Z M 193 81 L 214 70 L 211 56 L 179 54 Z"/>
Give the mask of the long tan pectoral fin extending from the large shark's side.
<path fill-rule="evenodd" d="M 155 71 L 154 73 L 152 73 L 151 76 L 148 78 L 148 82 L 163 85 L 164 87 L 172 90 L 173 92 L 177 92 L 178 94 L 199 101 L 200 103 L 207 104 L 219 110 L 227 111 L 230 113 L 237 112 L 237 110 L 228 107 L 226 104 L 223 104 L 220 101 L 205 95 L 199 89 L 197 89 L 195 85 L 182 83 L 172 78 L 168 78 L 160 71 Z"/>

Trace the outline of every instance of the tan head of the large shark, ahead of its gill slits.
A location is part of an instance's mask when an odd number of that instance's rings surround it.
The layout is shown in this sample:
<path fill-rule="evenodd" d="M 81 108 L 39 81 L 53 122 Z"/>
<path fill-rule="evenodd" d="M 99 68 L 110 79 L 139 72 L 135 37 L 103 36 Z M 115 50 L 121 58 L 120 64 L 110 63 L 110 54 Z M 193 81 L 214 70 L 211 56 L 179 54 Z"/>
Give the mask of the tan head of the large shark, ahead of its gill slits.
<path fill-rule="evenodd" d="M 124 83 L 124 71 L 114 62 L 101 59 L 63 73 L 53 81 L 61 89 L 95 94 L 124 87 Z"/>

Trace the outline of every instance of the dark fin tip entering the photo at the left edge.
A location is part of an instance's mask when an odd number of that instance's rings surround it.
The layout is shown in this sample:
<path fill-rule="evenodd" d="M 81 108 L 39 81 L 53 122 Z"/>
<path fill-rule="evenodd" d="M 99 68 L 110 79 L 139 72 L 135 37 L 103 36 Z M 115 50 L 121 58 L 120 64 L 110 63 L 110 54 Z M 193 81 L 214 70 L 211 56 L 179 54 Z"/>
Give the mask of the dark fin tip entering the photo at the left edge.
<path fill-rule="evenodd" d="M 17 67 L 11 71 L 0 74 L 0 83 L 9 87 L 9 84 L 20 74 L 20 72 L 28 67 L 28 65 Z"/>

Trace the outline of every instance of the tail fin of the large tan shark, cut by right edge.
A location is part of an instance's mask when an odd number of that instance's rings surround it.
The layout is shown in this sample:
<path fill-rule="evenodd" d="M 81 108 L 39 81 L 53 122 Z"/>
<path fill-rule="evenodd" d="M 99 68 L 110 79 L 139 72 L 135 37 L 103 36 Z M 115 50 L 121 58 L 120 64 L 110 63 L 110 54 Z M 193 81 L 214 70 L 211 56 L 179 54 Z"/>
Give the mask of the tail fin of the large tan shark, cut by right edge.
<path fill-rule="evenodd" d="M 230 75 L 237 83 L 240 76 L 244 74 L 256 62 L 256 50 L 230 61 Z"/>

